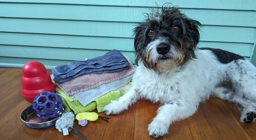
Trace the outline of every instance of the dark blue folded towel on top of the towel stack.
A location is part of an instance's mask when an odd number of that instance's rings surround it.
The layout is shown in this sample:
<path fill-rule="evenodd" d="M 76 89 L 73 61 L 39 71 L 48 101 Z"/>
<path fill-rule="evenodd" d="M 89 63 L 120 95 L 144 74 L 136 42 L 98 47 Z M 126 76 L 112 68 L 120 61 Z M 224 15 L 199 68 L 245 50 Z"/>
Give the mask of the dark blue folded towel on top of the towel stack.
<path fill-rule="evenodd" d="M 52 69 L 53 76 L 59 83 L 72 80 L 83 74 L 101 74 L 129 69 L 130 64 L 118 50 L 111 50 L 105 55 L 85 61 L 74 61 Z"/>

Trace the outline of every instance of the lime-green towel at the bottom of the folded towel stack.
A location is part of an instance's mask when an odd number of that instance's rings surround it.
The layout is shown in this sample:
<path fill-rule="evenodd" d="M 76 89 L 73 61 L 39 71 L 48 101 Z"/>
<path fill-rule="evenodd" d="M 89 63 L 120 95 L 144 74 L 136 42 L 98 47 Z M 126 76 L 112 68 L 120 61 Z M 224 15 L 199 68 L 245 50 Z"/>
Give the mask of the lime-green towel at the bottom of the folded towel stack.
<path fill-rule="evenodd" d="M 107 94 L 95 99 L 85 107 L 78 100 L 76 100 L 75 97 L 67 96 L 65 92 L 63 92 L 58 86 L 56 86 L 56 93 L 62 98 L 63 104 L 66 106 L 66 112 L 68 112 L 67 110 L 73 110 L 75 114 L 78 114 L 83 112 L 90 112 L 96 108 L 98 112 L 102 112 L 103 108 L 109 104 L 111 100 L 115 100 L 123 96 L 124 93 L 130 88 L 130 86 L 131 81 L 123 87 L 108 92 Z"/>

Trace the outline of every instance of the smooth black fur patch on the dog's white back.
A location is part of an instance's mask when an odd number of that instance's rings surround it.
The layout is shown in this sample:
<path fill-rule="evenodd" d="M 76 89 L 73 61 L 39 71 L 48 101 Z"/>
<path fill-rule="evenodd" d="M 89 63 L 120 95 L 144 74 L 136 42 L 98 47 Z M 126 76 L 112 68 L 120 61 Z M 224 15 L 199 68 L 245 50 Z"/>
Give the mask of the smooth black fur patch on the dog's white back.
<path fill-rule="evenodd" d="M 212 51 L 216 55 L 216 57 L 218 58 L 219 62 L 221 62 L 223 64 L 227 64 L 227 63 L 230 63 L 234 60 L 239 60 L 239 59 L 245 60 L 244 57 L 242 57 L 238 54 L 228 52 L 228 51 L 225 51 L 225 50 L 221 50 L 221 49 L 199 48 L 199 50 L 210 50 L 210 51 Z"/>

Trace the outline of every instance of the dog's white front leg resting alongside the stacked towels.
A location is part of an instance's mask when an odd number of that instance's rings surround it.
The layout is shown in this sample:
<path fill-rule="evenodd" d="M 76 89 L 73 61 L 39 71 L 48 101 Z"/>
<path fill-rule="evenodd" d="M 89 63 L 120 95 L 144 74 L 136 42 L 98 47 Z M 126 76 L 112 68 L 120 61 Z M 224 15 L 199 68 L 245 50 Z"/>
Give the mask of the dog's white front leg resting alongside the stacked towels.
<path fill-rule="evenodd" d="M 122 112 L 125 109 L 128 109 L 128 106 L 132 105 L 138 100 L 136 90 L 130 88 L 122 97 L 111 101 L 108 105 L 104 107 L 104 113 L 107 115 L 116 115 Z"/>

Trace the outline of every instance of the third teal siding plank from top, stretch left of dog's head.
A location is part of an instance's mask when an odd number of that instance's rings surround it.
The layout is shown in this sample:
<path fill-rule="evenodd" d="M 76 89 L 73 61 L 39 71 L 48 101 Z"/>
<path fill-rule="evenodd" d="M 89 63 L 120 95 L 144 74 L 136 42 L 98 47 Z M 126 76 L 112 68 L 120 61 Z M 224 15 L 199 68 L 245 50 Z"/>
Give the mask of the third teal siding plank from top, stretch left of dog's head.
<path fill-rule="evenodd" d="M 120 38 L 131 38 L 133 35 L 132 30 L 136 25 L 135 23 L 127 22 L 96 22 L 25 18 L 0 18 L 0 20 L 0 31 L 2 32 L 102 36 Z"/>

